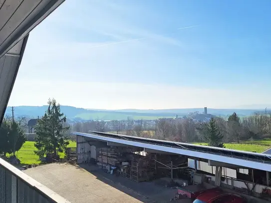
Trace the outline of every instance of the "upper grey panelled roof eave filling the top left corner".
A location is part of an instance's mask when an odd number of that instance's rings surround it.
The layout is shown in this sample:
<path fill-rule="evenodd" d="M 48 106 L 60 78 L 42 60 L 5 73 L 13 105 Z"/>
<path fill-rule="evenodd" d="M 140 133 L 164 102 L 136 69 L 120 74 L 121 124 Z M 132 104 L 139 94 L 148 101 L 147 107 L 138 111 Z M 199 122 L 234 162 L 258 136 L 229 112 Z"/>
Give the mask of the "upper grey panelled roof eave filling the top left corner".
<path fill-rule="evenodd" d="M 64 0 L 0 0 L 0 57 Z"/>

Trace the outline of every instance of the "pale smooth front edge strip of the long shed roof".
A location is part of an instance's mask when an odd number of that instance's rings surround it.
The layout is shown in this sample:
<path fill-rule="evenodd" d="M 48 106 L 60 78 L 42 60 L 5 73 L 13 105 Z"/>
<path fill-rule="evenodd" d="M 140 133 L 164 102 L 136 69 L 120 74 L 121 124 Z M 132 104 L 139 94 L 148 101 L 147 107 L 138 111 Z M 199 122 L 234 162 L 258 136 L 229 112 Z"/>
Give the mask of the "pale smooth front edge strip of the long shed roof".
<path fill-rule="evenodd" d="M 101 141 L 105 141 L 105 142 L 115 142 L 115 143 L 120 143 L 120 144 L 124 144 L 124 145 L 129 145 L 129 146 L 135 146 L 135 147 L 147 148 L 147 149 L 169 152 L 169 153 L 174 153 L 174 154 L 179 154 L 179 155 L 185 155 L 188 157 L 201 158 L 201 159 L 212 160 L 212 161 L 216 161 L 216 162 L 223 161 L 223 163 L 228 163 L 231 165 L 240 166 L 240 168 L 251 168 L 251 169 L 258 169 L 258 170 L 271 172 L 271 164 L 263 163 L 263 162 L 255 162 L 255 161 L 251 161 L 251 160 L 226 157 L 226 156 L 222 156 L 222 155 L 218 155 L 218 154 L 192 151 L 192 150 L 187 150 L 187 149 L 182 149 L 182 148 L 166 147 L 166 146 L 162 146 L 162 145 L 149 144 L 146 142 L 144 142 L 144 143 L 143 142 L 135 142 L 135 141 L 130 141 L 128 139 L 111 138 L 111 137 L 106 137 L 106 136 L 100 136 L 95 133 L 73 132 L 73 134 L 96 139 L 96 140 L 101 140 Z M 128 136 L 122 136 L 122 137 L 128 137 Z M 151 139 L 146 139 L 146 140 L 151 140 Z"/>

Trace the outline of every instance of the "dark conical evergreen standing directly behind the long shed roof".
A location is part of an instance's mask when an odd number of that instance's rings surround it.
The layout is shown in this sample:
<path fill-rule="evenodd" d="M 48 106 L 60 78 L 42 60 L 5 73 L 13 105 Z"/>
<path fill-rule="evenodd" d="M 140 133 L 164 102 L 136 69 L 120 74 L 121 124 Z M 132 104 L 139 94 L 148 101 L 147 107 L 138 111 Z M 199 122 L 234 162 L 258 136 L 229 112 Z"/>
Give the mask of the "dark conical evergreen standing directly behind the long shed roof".
<path fill-rule="evenodd" d="M 208 142 L 209 146 L 224 148 L 224 144 L 222 142 L 223 135 L 219 131 L 214 118 L 211 118 L 209 124 L 205 126 L 204 138 Z"/>

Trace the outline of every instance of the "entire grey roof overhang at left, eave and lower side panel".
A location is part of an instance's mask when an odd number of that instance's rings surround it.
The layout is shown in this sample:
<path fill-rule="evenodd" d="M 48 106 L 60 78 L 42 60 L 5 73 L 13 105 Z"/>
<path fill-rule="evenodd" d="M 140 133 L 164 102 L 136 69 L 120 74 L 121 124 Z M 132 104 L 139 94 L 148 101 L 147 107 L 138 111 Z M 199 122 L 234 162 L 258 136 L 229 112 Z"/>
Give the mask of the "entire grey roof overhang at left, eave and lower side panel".
<path fill-rule="evenodd" d="M 28 33 L 64 0 L 0 0 L 0 124 Z"/>

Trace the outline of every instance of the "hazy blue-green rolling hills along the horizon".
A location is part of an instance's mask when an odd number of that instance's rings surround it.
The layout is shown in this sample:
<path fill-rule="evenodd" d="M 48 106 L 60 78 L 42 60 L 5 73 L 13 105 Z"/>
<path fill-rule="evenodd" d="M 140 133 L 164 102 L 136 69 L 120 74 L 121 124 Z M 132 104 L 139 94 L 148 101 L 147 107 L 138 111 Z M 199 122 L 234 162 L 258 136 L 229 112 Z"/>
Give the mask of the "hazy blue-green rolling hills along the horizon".
<path fill-rule="evenodd" d="M 24 116 L 27 118 L 41 117 L 46 111 L 47 106 L 16 106 L 14 108 L 15 116 Z M 61 111 L 70 120 L 124 120 L 128 116 L 137 119 L 157 119 L 157 118 L 174 118 L 176 114 L 178 116 L 184 116 L 191 112 L 203 112 L 203 108 L 191 108 L 191 109 L 121 109 L 121 110 L 95 110 L 76 108 L 72 106 L 61 106 Z M 249 116 L 254 112 L 259 111 L 257 109 L 208 109 L 208 113 L 216 116 L 229 116 L 233 112 L 236 112 L 239 116 Z M 11 108 L 7 107 L 6 114 L 11 114 Z"/>

